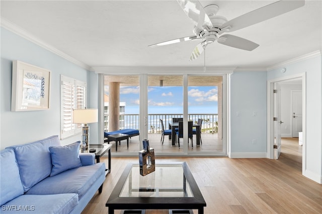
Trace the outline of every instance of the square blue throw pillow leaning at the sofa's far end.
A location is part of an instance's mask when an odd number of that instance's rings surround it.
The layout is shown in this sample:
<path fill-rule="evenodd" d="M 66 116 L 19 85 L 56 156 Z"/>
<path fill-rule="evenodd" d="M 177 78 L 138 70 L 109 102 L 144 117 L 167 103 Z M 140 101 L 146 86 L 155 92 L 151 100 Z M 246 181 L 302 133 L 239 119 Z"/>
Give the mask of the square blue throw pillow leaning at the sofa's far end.
<path fill-rule="evenodd" d="M 82 166 L 81 159 L 79 158 L 79 145 L 81 145 L 81 141 L 67 146 L 49 147 L 51 163 L 53 165 L 50 176 Z"/>

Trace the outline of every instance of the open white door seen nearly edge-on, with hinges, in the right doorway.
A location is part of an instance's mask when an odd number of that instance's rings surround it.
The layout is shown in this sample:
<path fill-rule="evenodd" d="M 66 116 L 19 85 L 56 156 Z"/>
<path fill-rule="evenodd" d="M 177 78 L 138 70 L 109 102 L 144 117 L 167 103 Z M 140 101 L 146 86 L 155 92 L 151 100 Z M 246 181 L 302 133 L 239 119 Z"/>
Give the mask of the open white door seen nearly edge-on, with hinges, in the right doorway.
<path fill-rule="evenodd" d="M 274 83 L 274 91 L 273 91 L 273 106 L 274 106 L 274 158 L 278 159 L 281 154 L 281 100 L 280 93 L 281 88 L 278 83 Z"/>

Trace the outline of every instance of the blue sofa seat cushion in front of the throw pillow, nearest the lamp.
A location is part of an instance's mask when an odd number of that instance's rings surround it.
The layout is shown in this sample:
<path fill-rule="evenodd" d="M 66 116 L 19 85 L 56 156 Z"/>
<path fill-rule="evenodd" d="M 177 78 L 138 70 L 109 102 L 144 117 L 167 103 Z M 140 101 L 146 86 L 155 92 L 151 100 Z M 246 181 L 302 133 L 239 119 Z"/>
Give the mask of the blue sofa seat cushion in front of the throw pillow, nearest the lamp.
<path fill-rule="evenodd" d="M 81 200 L 102 174 L 105 175 L 104 163 L 69 169 L 40 181 L 30 188 L 26 194 L 77 193 L 79 200 Z"/>

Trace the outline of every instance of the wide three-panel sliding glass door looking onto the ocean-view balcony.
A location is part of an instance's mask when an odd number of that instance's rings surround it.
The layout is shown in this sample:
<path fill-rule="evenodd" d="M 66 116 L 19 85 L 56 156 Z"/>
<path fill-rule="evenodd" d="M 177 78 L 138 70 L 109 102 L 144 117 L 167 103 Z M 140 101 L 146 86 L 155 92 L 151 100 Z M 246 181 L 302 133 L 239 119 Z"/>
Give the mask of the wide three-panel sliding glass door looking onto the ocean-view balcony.
<path fill-rule="evenodd" d="M 158 156 L 227 154 L 228 75 L 105 75 L 104 132 L 133 129 L 140 135 L 112 152 L 133 156 L 148 139 Z M 183 131 L 179 122 L 183 121 Z M 191 122 L 191 123 L 190 123 Z M 192 124 L 192 134 L 190 125 Z M 170 134 L 169 131 L 171 130 Z M 191 134 L 191 135 L 189 135 Z M 178 143 L 178 136 L 180 147 Z M 192 141 L 191 141 L 192 140 Z"/>

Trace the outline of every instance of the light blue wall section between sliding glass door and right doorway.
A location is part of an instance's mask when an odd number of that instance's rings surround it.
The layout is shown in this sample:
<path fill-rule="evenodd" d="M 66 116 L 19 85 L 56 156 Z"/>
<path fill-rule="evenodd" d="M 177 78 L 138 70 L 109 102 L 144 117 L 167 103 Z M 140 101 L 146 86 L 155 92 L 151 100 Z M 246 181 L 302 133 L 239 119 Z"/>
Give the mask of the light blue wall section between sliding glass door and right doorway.
<path fill-rule="evenodd" d="M 266 152 L 266 72 L 234 72 L 230 82 L 231 153 Z"/>

